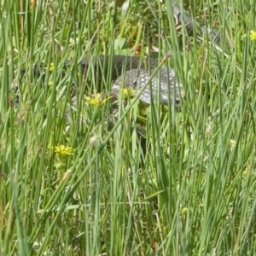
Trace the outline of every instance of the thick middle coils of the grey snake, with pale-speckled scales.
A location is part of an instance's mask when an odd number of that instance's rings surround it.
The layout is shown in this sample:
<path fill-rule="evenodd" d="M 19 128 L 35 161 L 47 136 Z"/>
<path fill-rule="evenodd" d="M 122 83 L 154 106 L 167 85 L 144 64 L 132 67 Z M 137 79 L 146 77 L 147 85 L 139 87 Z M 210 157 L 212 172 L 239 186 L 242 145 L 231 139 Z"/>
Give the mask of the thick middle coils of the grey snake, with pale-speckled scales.
<path fill-rule="evenodd" d="M 72 65 L 71 62 L 66 63 Z M 95 77 L 102 80 L 106 73 L 112 73 L 113 87 L 111 94 L 114 97 L 119 95 L 119 90 L 131 88 L 140 93 L 140 100 L 147 104 L 152 101 L 160 104 L 172 105 L 180 108 L 180 101 L 183 98 L 183 86 L 177 82 L 176 73 L 172 68 L 160 67 L 159 61 L 151 59 L 144 62 L 136 56 L 114 55 L 113 57 L 96 56 L 90 61 L 82 61 L 84 73 L 92 67 Z M 104 69 L 104 67 L 107 67 Z M 105 72 L 104 72 L 105 71 Z"/>

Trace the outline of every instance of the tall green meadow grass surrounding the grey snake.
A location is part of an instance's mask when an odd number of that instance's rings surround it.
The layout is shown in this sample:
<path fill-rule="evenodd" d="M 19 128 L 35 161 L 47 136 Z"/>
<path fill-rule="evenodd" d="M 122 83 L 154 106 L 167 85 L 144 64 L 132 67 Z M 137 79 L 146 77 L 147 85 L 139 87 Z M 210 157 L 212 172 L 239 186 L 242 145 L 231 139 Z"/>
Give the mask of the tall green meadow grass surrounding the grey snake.
<path fill-rule="evenodd" d="M 110 1 L 34 3 L 1 2 L 1 254 L 253 255 L 249 3 L 185 4 L 201 26 L 217 26 L 219 47 L 175 26 L 168 1 L 137 1 L 123 19 Z M 186 101 L 176 112 L 131 100 L 109 125 L 110 102 L 84 100 L 99 92 L 96 70 L 63 73 L 63 63 L 135 52 L 160 60 L 172 53 Z M 44 75 L 34 77 L 42 63 Z M 73 85 L 84 92 L 75 109 Z M 111 86 L 107 76 L 100 91 L 109 95 Z"/>

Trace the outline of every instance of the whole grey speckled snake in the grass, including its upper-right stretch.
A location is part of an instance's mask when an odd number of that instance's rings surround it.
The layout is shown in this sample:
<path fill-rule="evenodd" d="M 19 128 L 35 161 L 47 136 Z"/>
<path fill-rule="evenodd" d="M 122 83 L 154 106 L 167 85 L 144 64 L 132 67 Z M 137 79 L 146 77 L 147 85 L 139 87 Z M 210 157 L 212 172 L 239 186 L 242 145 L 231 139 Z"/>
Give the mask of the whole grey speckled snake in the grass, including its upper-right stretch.
<path fill-rule="evenodd" d="M 205 26 L 200 26 L 193 21 L 190 15 L 181 11 L 177 0 L 172 0 L 172 11 L 177 24 L 184 25 L 187 32 L 195 32 L 196 29 L 201 28 L 201 33 L 210 33 L 212 41 L 220 44 L 218 32 L 214 29 L 209 32 Z M 185 96 L 183 84 L 177 78 L 174 69 L 159 67 L 159 63 L 160 61 L 157 59 L 141 61 L 137 56 L 100 55 L 85 59 L 80 64 L 84 73 L 87 73 L 92 67 L 98 80 L 107 78 L 106 73 L 102 72 L 102 67 L 107 66 L 105 71 L 112 73 L 111 95 L 114 98 L 119 95 L 119 90 L 130 88 L 139 94 L 139 99 L 144 103 L 160 102 L 161 105 L 174 104 L 176 108 L 180 108 Z M 73 67 L 77 64 L 73 61 L 66 61 L 65 65 Z M 34 73 L 38 73 L 38 67 L 34 68 Z"/>

